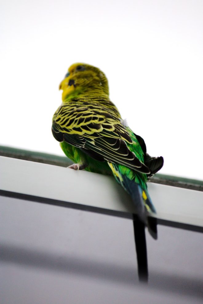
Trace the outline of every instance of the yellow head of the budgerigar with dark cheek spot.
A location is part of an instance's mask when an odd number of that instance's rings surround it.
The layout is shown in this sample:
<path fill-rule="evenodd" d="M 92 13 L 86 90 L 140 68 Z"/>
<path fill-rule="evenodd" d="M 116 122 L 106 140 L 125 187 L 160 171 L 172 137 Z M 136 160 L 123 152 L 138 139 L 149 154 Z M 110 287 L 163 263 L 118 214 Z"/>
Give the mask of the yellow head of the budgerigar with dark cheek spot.
<path fill-rule="evenodd" d="M 109 95 L 108 80 L 100 69 L 84 63 L 75 63 L 70 66 L 64 80 L 59 85 L 59 90 L 63 90 L 62 100 L 69 96 L 79 94 Z"/>

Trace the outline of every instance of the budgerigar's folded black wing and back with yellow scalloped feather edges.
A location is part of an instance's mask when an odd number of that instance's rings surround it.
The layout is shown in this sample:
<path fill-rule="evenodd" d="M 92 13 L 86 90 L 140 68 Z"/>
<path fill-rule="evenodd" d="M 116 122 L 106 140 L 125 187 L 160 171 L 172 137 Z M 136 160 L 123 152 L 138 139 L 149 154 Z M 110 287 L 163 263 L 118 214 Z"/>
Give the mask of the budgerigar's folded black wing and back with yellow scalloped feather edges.
<path fill-rule="evenodd" d="M 99 161 L 106 160 L 150 173 L 149 168 L 128 148 L 127 144 L 133 144 L 133 141 L 113 107 L 109 109 L 91 102 L 80 104 L 78 100 L 64 104 L 54 114 L 52 132 L 58 141 L 79 147 Z"/>

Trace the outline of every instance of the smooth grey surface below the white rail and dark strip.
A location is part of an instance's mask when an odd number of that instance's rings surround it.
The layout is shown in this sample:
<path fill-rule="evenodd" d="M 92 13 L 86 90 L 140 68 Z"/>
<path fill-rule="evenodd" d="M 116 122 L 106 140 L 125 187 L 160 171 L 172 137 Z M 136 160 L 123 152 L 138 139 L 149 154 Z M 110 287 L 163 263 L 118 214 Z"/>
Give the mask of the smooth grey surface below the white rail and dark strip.
<path fill-rule="evenodd" d="M 131 220 L 7 197 L 0 208 L 1 304 L 201 303 L 199 232 L 146 231 L 142 285 Z"/>

